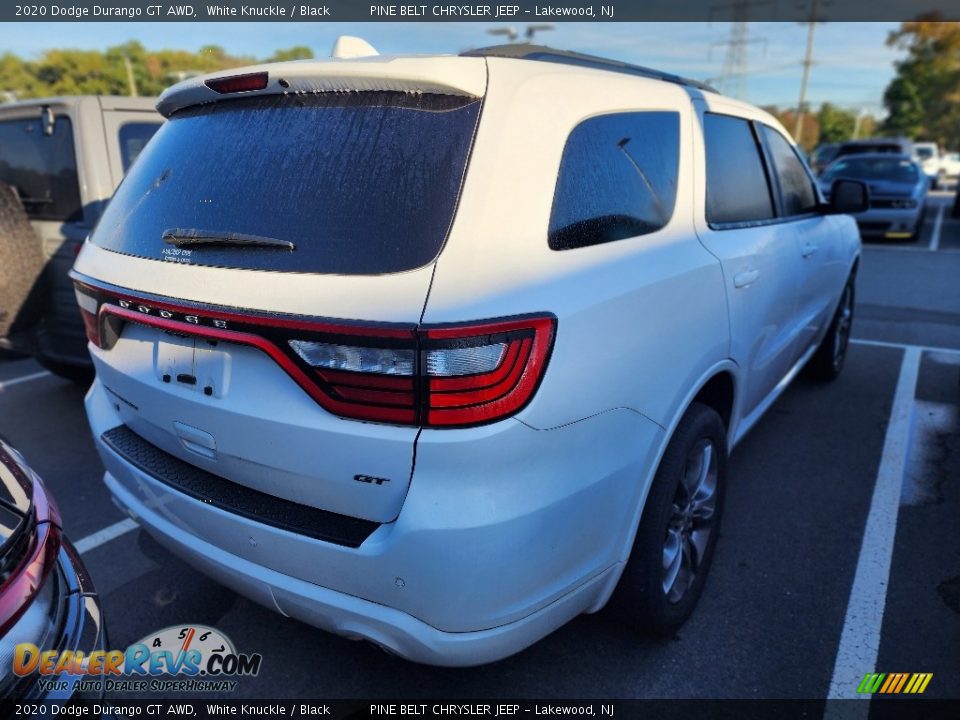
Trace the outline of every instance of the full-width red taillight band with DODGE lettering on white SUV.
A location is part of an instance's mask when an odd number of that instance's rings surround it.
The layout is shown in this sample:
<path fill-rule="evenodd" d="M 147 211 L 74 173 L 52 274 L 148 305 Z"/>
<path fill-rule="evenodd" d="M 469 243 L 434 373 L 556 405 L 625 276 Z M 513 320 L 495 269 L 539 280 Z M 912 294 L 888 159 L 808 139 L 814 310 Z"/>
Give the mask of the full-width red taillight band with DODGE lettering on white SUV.
<path fill-rule="evenodd" d="M 482 425 L 533 397 L 553 346 L 556 318 L 523 315 L 451 325 L 340 324 L 178 307 L 77 283 L 95 346 L 122 324 L 256 347 L 318 404 L 355 420 L 425 427 Z"/>

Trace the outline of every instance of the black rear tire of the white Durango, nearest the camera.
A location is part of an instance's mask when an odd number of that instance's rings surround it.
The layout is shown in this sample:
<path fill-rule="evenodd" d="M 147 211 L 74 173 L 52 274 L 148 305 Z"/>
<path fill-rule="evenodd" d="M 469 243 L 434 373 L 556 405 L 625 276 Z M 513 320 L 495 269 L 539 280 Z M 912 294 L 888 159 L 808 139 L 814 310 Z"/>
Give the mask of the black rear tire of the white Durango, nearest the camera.
<path fill-rule="evenodd" d="M 708 468 L 712 466 L 714 472 L 712 508 L 708 522 L 700 518 L 701 522 L 698 524 L 696 511 L 687 519 L 693 521 L 694 529 L 691 533 L 704 529 L 709 532 L 700 542 L 690 539 L 689 545 L 684 545 L 683 541 L 680 541 L 678 557 L 681 566 L 687 558 L 684 550 L 689 548 L 688 559 L 694 570 L 684 574 L 681 567 L 681 574 L 676 576 L 674 584 L 668 589 L 670 567 L 665 569 L 664 564 L 670 546 L 676 546 L 678 533 L 682 535 L 683 532 L 681 525 L 684 520 L 680 517 L 683 512 L 678 511 L 688 497 L 686 488 L 689 484 L 685 484 L 684 479 L 690 477 L 691 471 L 695 470 L 691 466 L 694 458 L 699 456 L 703 462 L 701 448 L 705 443 L 711 448 L 710 459 L 707 460 Z M 630 560 L 611 600 L 613 610 L 625 624 L 645 635 L 669 637 L 676 633 L 693 613 L 713 560 L 723 515 L 726 475 L 727 433 L 723 420 L 712 408 L 693 403 L 670 439 L 660 467 L 657 468 L 637 528 Z M 706 497 L 706 494 L 701 494 L 701 500 Z M 701 515 L 706 513 L 701 512 Z M 697 527 L 700 530 L 697 530 Z M 675 592 L 677 590 L 680 591 L 679 595 Z"/>

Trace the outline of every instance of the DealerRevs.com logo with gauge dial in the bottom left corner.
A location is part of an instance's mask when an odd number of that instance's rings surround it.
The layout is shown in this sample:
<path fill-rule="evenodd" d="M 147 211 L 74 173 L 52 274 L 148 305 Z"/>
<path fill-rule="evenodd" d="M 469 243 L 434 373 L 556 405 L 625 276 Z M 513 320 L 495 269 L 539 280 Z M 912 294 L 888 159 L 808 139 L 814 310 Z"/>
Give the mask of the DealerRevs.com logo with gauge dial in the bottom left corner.
<path fill-rule="evenodd" d="M 14 650 L 13 672 L 39 674 L 48 691 L 229 692 L 236 689 L 234 678 L 256 676 L 262 661 L 260 653 L 238 653 L 215 628 L 174 625 L 126 650 L 85 654 L 20 643 Z"/>

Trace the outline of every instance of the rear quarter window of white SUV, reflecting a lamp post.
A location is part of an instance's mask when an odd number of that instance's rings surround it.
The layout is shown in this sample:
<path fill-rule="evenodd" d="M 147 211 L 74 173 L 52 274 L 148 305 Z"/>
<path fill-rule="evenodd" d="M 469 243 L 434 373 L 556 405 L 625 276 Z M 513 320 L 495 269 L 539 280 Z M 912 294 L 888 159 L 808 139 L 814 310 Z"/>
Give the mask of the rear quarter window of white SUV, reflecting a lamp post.
<path fill-rule="evenodd" d="M 652 233 L 673 215 L 680 115 L 600 115 L 574 128 L 563 149 L 550 213 L 553 250 Z"/>

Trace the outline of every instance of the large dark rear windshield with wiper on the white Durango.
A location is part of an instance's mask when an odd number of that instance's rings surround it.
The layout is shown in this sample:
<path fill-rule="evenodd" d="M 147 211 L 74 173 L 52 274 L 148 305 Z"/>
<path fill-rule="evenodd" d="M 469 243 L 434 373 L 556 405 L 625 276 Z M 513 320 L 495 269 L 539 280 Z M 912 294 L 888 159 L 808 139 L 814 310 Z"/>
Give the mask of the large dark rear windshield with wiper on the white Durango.
<path fill-rule="evenodd" d="M 479 100 L 381 92 L 188 108 L 144 149 L 93 242 L 252 270 L 421 267 L 446 238 L 479 109 Z"/>

